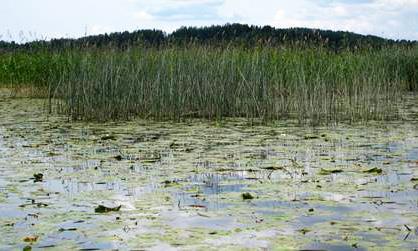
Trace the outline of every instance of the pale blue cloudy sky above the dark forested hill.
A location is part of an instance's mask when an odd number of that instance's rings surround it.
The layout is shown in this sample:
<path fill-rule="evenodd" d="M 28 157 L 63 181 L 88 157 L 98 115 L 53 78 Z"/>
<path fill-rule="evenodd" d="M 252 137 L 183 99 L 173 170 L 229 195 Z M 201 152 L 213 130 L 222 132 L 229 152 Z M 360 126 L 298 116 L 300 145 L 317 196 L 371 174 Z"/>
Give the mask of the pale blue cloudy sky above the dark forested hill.
<path fill-rule="evenodd" d="M 0 40 L 244 23 L 418 40 L 418 0 L 1 0 Z"/>

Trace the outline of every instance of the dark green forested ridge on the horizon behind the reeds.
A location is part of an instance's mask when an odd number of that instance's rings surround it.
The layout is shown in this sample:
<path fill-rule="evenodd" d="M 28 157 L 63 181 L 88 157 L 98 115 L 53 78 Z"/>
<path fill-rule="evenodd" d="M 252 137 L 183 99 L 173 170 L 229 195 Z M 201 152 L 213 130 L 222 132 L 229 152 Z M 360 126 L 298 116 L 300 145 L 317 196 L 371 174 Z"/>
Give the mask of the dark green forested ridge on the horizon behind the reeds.
<path fill-rule="evenodd" d="M 182 27 L 171 34 L 161 30 L 138 30 L 134 32 L 115 32 L 110 34 L 86 36 L 79 39 L 52 39 L 33 41 L 25 44 L 0 41 L 0 51 L 30 49 L 68 49 L 68 48 L 117 48 L 133 46 L 187 46 L 201 44 L 210 46 L 260 45 L 282 46 L 324 46 L 333 50 L 364 47 L 382 47 L 393 44 L 414 45 L 416 41 L 390 40 L 371 35 L 352 32 L 330 31 L 308 28 L 277 29 L 271 26 L 249 26 L 243 24 L 214 25 L 209 27 Z"/>

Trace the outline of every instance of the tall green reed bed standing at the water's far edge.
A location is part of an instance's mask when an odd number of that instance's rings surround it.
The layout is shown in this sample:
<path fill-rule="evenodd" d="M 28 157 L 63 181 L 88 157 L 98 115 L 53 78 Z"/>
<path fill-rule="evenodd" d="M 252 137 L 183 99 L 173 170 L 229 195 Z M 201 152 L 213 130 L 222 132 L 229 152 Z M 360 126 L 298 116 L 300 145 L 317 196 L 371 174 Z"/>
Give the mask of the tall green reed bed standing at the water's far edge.
<path fill-rule="evenodd" d="M 34 87 L 75 120 L 388 120 L 418 89 L 418 50 L 395 46 L 37 51 L 4 53 L 0 65 L 0 85 Z"/>

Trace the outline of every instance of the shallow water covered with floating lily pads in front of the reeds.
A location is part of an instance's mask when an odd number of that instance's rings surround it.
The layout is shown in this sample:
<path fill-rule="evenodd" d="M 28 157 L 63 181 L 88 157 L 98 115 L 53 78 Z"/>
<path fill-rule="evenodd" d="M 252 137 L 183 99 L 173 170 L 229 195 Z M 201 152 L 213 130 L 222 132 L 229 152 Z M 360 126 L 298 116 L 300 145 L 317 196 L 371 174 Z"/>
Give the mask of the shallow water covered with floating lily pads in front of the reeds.
<path fill-rule="evenodd" d="M 0 98 L 1 250 L 418 247 L 414 103 L 316 128 L 69 123 L 43 104 Z"/>

